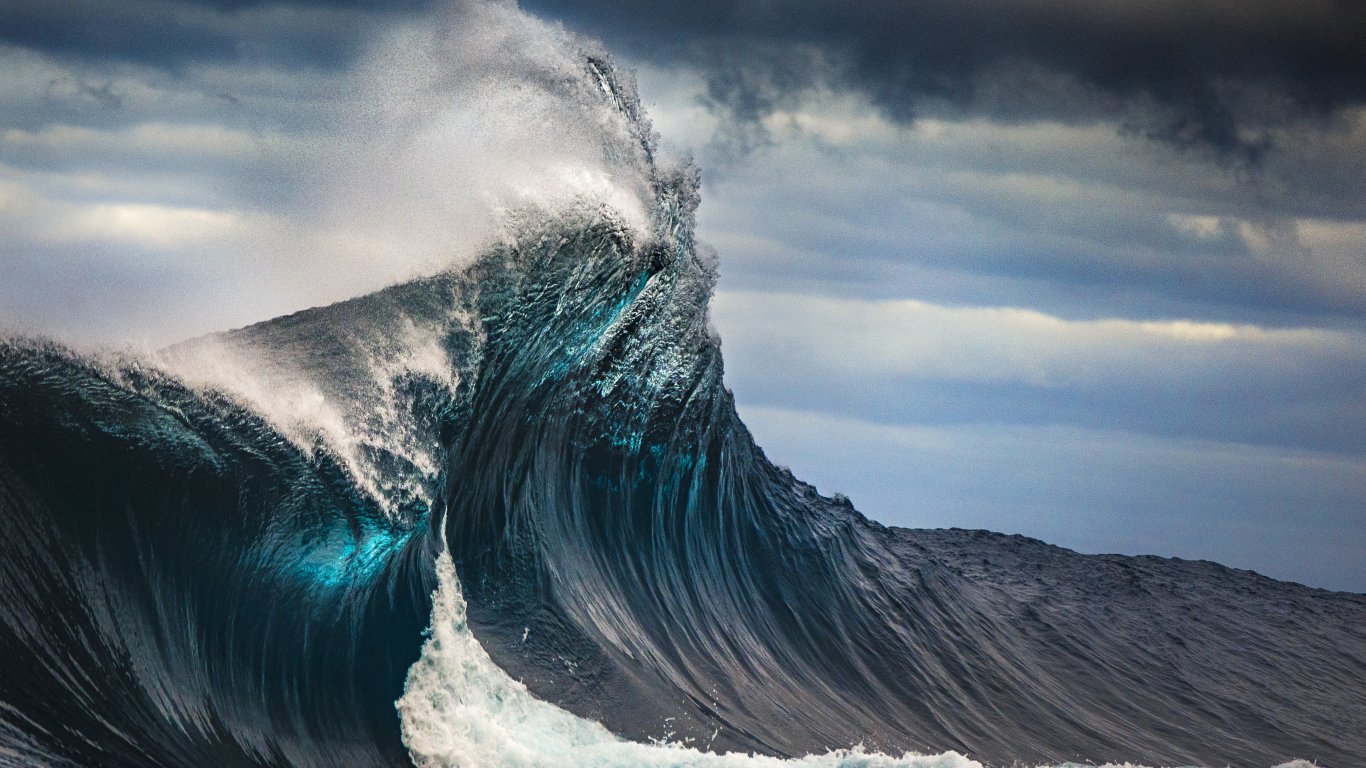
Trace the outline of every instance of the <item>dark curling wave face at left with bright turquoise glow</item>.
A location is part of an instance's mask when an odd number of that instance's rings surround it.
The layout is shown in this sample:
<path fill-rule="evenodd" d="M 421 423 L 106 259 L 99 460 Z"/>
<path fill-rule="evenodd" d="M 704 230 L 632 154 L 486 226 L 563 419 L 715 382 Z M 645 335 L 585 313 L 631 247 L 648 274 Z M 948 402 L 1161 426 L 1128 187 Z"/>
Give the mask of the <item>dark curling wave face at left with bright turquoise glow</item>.
<path fill-rule="evenodd" d="M 0 764 L 399 764 L 434 552 L 332 454 L 10 344 L 0 512 Z"/>

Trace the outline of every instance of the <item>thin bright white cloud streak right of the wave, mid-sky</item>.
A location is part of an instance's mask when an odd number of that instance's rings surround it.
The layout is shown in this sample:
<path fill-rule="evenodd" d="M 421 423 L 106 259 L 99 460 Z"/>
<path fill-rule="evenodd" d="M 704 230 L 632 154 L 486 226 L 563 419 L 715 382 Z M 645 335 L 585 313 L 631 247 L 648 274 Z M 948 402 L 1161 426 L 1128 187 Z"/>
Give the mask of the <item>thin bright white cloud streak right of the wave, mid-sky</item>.
<path fill-rule="evenodd" d="M 1255 368 L 1268 357 L 1321 358 L 1337 351 L 1359 358 L 1354 350 L 1363 343 L 1346 332 L 1313 328 L 1063 320 L 1019 307 L 753 291 L 721 292 L 714 313 L 732 344 L 762 354 L 779 370 L 1014 381 L 1045 388 L 1126 377 L 1156 384 L 1206 376 L 1218 368 Z"/>

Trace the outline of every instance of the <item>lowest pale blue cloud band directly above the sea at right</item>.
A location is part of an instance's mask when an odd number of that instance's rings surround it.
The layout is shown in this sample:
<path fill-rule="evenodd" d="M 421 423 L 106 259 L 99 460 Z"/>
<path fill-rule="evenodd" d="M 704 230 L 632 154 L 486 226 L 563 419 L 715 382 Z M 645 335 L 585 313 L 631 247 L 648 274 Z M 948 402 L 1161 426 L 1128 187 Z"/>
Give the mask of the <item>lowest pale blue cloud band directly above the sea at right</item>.
<path fill-rule="evenodd" d="M 888 525 L 1022 533 L 1366 589 L 1366 465 L 1354 458 L 1075 426 L 740 411 L 769 458 Z"/>

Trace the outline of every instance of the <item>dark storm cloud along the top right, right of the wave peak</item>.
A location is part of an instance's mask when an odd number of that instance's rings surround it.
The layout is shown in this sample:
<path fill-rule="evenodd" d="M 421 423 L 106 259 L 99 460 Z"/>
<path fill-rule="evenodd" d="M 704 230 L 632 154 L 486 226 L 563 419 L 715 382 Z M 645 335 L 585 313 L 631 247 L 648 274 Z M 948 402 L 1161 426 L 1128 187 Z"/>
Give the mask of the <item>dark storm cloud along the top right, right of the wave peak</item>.
<path fill-rule="evenodd" d="M 1366 3 L 1346 0 L 530 0 L 643 60 L 699 68 L 753 122 L 814 85 L 887 115 L 1105 118 L 1257 160 L 1269 128 L 1366 102 Z"/>

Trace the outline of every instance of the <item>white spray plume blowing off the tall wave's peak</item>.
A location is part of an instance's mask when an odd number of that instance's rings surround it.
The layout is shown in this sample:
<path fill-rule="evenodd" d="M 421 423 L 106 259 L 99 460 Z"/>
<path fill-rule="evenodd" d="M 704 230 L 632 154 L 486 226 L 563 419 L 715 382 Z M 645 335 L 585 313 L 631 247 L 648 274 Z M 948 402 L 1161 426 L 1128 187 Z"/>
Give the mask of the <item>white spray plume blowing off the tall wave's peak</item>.
<path fill-rule="evenodd" d="M 377 287 L 473 258 L 507 239 L 520 210 L 605 205 L 647 234 L 647 161 L 601 75 L 590 79 L 586 46 L 486 0 L 389 31 L 359 67 L 336 149 L 322 152 L 316 239 L 302 250 L 342 268 L 328 280 L 365 275 Z"/>

